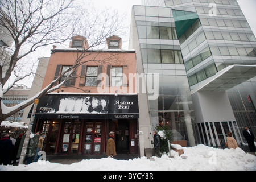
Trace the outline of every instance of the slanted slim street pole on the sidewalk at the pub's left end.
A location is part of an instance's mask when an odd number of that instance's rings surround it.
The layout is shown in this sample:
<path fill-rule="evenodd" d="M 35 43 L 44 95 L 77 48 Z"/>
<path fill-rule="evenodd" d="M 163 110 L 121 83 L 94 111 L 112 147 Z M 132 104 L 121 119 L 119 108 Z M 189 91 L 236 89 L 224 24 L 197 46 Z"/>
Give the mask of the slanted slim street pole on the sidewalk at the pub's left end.
<path fill-rule="evenodd" d="M 31 118 L 30 118 L 30 123 L 28 125 L 27 134 L 26 134 L 26 137 L 25 137 L 25 140 L 23 143 L 23 147 L 22 147 L 22 151 L 20 154 L 20 158 L 19 158 L 19 165 L 24 164 L 24 160 L 26 158 L 28 142 L 30 142 L 30 134 L 31 134 L 31 130 L 32 130 L 32 126 L 33 126 L 32 124 L 34 122 L 35 112 L 36 112 L 36 107 L 38 106 L 38 102 L 39 102 L 39 100 L 35 99 Z"/>

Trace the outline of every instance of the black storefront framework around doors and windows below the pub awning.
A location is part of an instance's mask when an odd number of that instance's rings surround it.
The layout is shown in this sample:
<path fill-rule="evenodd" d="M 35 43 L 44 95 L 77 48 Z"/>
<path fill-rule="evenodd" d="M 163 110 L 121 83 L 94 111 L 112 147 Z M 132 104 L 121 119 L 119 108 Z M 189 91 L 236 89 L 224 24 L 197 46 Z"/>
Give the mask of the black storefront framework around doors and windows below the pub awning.
<path fill-rule="evenodd" d="M 138 119 L 106 119 L 102 121 L 101 119 L 82 119 L 80 120 L 80 137 L 79 137 L 79 145 L 77 152 L 72 153 L 71 152 L 71 145 L 72 145 L 72 135 L 73 133 L 73 127 L 74 122 L 76 122 L 74 119 L 58 119 L 57 123 L 55 119 L 39 119 L 38 126 L 36 126 L 36 131 L 43 131 L 43 127 L 45 125 L 48 125 L 48 130 L 46 131 L 47 137 L 44 144 L 44 151 L 46 151 L 47 154 L 55 154 L 55 155 L 104 155 L 106 151 L 106 141 L 108 140 L 108 134 L 109 131 L 116 131 L 115 128 L 115 122 L 128 122 L 129 123 L 129 154 L 138 154 L 138 143 L 139 143 L 139 135 L 138 135 Z M 55 122 L 55 124 L 54 124 Z M 67 153 L 61 152 L 63 148 L 63 134 L 64 134 L 64 126 L 65 122 L 71 122 L 71 132 L 69 133 L 69 142 L 68 142 L 68 151 Z M 85 151 L 85 144 L 87 143 L 85 141 L 86 134 L 88 134 L 86 125 L 90 122 L 93 122 L 93 130 L 96 129 L 96 124 L 101 123 L 101 142 L 97 143 L 95 142 L 95 139 L 92 141 L 92 147 L 90 148 L 90 152 Z M 114 123 L 114 124 L 113 124 Z M 54 150 L 51 149 L 50 138 L 52 135 L 52 129 L 54 125 L 59 125 L 58 130 L 56 131 L 56 138 L 55 138 L 55 148 Z M 93 133 L 92 133 L 93 134 Z M 94 134 L 92 137 L 94 138 L 96 134 Z M 117 137 L 117 135 L 115 135 Z M 133 140 L 133 144 L 131 144 L 131 141 Z M 67 144 L 67 142 L 64 142 Z M 94 144 L 100 144 L 100 151 L 94 152 Z"/>

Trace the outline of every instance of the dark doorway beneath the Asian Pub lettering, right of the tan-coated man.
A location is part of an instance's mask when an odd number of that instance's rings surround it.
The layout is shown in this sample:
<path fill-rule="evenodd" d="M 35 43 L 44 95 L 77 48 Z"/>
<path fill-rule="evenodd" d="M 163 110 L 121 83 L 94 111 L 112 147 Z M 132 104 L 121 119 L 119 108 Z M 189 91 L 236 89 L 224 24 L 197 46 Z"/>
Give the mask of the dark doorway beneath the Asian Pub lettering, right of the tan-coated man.
<path fill-rule="evenodd" d="M 127 154 L 129 152 L 129 122 L 119 121 L 115 133 L 115 146 L 117 153 Z"/>

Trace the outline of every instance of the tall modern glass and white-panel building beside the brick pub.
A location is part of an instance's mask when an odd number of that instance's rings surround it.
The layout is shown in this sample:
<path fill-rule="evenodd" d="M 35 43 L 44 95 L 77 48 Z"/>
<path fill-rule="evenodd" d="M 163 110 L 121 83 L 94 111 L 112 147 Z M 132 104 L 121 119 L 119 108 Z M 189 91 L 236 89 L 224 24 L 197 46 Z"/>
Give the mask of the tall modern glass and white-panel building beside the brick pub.
<path fill-rule="evenodd" d="M 133 7 L 129 48 L 138 73 L 159 75 L 159 96 L 139 94 L 148 109 L 140 115 L 150 113 L 141 130 L 169 125 L 174 140 L 213 147 L 232 131 L 246 143 L 243 127 L 256 131 L 256 39 L 237 1 L 143 2 Z"/>

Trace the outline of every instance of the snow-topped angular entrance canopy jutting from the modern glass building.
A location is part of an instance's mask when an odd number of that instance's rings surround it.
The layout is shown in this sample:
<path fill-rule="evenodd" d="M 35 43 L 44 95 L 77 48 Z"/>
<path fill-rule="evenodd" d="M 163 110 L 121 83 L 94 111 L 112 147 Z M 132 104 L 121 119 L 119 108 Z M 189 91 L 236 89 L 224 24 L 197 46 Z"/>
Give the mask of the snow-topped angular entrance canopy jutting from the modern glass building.
<path fill-rule="evenodd" d="M 256 76 L 256 65 L 230 65 L 216 75 L 203 81 L 191 94 L 196 92 L 221 92 L 233 88 Z"/>

